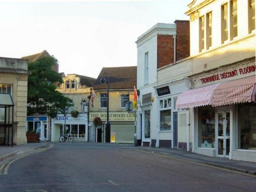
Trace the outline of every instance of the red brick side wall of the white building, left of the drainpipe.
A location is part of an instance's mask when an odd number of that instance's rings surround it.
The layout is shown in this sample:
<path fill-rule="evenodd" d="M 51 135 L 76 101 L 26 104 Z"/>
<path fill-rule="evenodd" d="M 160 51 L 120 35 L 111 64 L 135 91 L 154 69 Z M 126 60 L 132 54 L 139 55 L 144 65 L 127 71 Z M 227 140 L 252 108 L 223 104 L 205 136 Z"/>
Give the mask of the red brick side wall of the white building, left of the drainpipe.
<path fill-rule="evenodd" d="M 173 35 L 157 35 L 157 68 L 174 62 Z"/>

